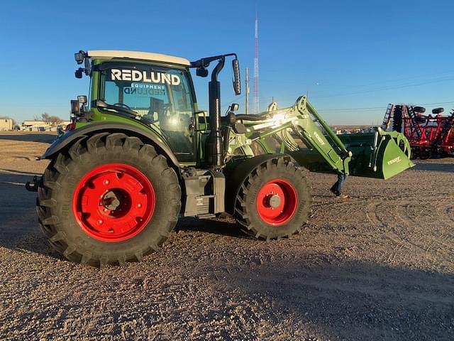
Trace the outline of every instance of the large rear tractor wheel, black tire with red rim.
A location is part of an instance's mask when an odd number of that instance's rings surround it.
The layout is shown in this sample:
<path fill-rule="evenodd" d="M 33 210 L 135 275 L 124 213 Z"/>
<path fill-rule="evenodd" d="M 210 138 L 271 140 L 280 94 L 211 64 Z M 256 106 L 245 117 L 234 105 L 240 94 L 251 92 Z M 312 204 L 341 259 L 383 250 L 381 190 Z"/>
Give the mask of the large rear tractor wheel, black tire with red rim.
<path fill-rule="evenodd" d="M 101 188 L 115 176 L 117 181 Z M 138 209 L 142 203 L 145 208 Z M 175 227 L 180 208 L 181 189 L 167 159 L 136 137 L 108 133 L 81 139 L 52 160 L 36 207 L 54 249 L 71 261 L 100 267 L 141 261 L 157 251 Z M 114 227 L 98 229 L 92 215 L 103 217 L 103 227 Z"/>

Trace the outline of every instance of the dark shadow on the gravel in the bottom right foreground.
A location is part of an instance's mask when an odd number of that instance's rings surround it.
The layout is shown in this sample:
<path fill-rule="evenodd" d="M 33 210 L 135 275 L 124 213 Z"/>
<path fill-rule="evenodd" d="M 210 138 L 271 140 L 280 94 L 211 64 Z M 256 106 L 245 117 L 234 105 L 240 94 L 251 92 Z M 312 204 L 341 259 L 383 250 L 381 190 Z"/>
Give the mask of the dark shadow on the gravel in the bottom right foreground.
<path fill-rule="evenodd" d="M 227 259 L 219 264 L 228 267 L 222 281 L 203 275 L 262 305 L 259 311 L 289 335 L 306 327 L 314 332 L 295 340 L 453 340 L 453 274 L 367 261 L 314 262 L 303 250 L 292 259 L 276 256 L 249 269 Z M 263 297 L 271 307 L 263 306 Z M 248 318 L 260 320 L 262 313 Z"/>

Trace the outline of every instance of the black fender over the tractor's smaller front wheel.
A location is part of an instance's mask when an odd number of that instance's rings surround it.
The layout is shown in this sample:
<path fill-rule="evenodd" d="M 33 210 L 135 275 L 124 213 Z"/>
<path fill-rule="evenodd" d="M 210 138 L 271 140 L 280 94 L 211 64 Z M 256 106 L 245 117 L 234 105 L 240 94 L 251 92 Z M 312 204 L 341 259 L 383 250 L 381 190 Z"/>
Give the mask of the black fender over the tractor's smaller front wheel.
<path fill-rule="evenodd" d="M 226 175 L 226 183 L 228 183 L 226 186 L 226 212 L 233 215 L 236 196 L 238 195 L 240 186 L 243 184 L 244 180 L 246 180 L 250 172 L 262 163 L 273 158 L 284 158 L 288 161 L 292 161 L 292 158 L 287 154 L 261 154 L 246 159 L 241 162 L 231 174 Z"/>

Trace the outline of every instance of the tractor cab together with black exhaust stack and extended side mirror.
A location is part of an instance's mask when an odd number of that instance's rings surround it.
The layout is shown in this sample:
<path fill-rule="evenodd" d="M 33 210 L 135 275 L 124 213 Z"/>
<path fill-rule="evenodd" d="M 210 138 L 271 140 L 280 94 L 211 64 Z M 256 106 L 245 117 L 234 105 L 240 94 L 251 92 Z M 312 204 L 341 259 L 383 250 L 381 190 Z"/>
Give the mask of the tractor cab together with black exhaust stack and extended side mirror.
<path fill-rule="evenodd" d="M 216 55 L 189 62 L 184 58 L 157 53 L 118 50 L 79 51 L 74 57 L 79 67 L 75 75 L 89 75 L 91 101 L 86 107 L 72 101 L 74 123 L 88 121 L 119 121 L 135 124 L 163 141 L 180 165 L 204 164 L 221 167 L 224 164 L 224 146 L 220 125 L 220 83 L 218 73 L 225 58 L 234 56 L 233 87 L 240 94 L 240 71 L 235 53 Z M 196 97 L 189 67 L 196 75 L 206 77 L 211 62 L 217 65 L 209 82 L 209 134 L 195 134 Z M 133 120 L 131 120 L 133 119 Z M 146 127 L 145 127 L 146 126 Z M 75 128 L 75 124 L 74 124 Z M 148 128 L 148 129 L 147 129 Z M 204 124 L 206 130 L 207 124 Z"/>

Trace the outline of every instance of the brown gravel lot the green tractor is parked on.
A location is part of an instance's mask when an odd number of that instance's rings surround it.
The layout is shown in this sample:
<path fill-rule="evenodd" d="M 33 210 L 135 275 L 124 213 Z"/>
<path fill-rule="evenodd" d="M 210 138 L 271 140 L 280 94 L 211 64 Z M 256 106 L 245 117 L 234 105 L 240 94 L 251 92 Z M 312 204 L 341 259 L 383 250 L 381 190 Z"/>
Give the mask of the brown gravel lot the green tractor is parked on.
<path fill-rule="evenodd" d="M 313 216 L 273 242 L 184 219 L 142 263 L 56 254 L 23 188 L 55 136 L 0 134 L 0 339 L 454 340 L 454 159 L 387 180 L 311 174 Z"/>

